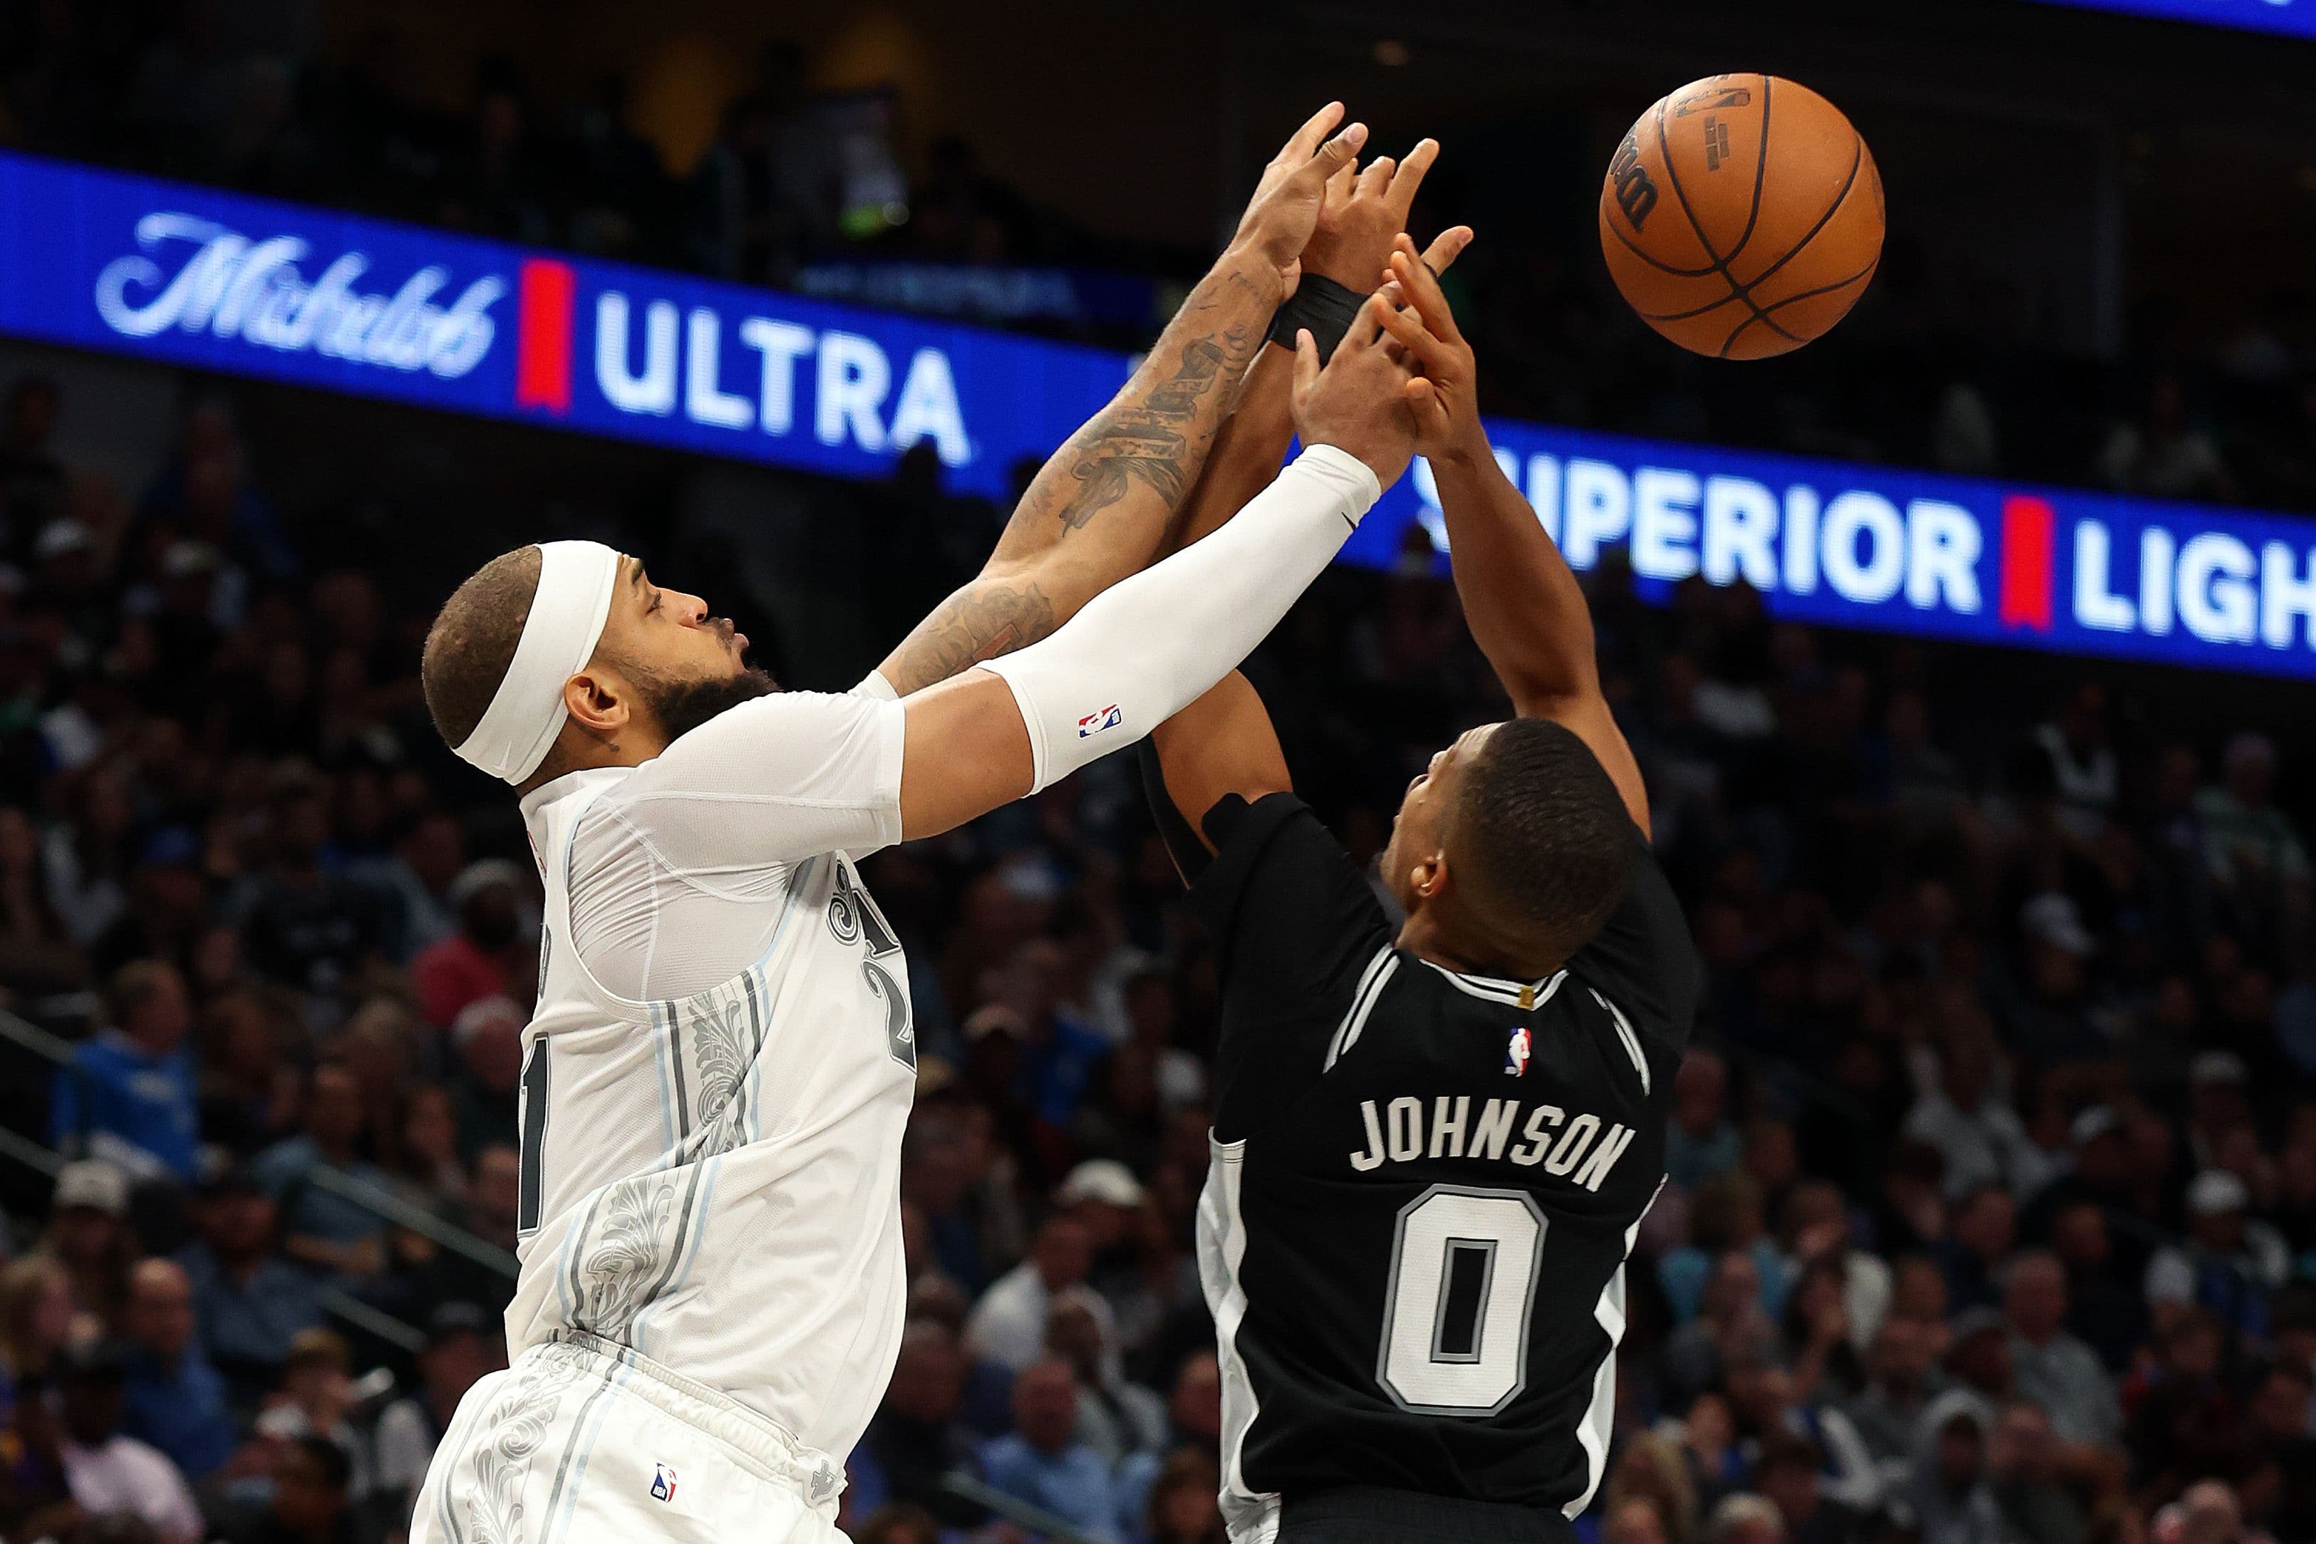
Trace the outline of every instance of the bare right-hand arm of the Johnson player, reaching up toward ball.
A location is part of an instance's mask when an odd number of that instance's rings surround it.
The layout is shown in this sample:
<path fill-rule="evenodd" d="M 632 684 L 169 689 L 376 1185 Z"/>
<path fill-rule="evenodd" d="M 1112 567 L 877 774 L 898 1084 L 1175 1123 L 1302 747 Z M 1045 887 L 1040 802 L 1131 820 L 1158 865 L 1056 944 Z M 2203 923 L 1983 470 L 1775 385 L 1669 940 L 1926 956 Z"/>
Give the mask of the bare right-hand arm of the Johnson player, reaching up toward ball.
<path fill-rule="evenodd" d="M 1431 463 L 1448 521 L 1448 553 L 1464 620 L 1522 718 L 1568 725 L 1624 794 L 1633 824 L 1649 831 L 1649 792 L 1624 741 L 1593 657 L 1591 606 L 1536 509 L 1496 465 L 1480 424 L 1471 345 L 1454 324 L 1438 278 L 1413 243 L 1392 252 L 1383 329 L 1422 366 L 1410 380 L 1417 451 Z"/>

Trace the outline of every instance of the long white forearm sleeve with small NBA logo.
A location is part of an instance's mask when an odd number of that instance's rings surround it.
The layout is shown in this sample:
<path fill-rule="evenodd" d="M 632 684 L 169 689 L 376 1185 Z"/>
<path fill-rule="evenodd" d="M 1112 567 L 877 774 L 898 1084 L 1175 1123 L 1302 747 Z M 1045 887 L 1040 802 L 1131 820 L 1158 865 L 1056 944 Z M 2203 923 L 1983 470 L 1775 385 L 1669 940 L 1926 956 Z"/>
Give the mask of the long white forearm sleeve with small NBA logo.
<path fill-rule="evenodd" d="M 980 669 L 1012 688 L 1042 789 L 1128 745 L 1227 676 L 1383 495 L 1313 444 L 1204 542 L 1102 590 L 1051 637 Z"/>

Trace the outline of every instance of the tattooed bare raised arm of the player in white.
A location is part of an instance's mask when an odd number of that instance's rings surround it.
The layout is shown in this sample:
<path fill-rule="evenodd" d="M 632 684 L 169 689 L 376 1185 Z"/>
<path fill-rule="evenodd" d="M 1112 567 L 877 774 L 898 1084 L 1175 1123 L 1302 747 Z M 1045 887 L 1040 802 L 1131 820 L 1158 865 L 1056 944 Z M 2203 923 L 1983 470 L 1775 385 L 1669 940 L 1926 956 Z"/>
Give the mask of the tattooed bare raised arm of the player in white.
<path fill-rule="evenodd" d="M 1357 123 L 1327 139 L 1341 116 L 1329 102 L 1271 157 L 1230 248 L 1142 368 L 1045 463 L 980 576 L 885 657 L 878 674 L 894 694 L 1035 644 L 1170 546 L 1271 313 L 1302 273 L 1327 181 L 1366 139 Z"/>

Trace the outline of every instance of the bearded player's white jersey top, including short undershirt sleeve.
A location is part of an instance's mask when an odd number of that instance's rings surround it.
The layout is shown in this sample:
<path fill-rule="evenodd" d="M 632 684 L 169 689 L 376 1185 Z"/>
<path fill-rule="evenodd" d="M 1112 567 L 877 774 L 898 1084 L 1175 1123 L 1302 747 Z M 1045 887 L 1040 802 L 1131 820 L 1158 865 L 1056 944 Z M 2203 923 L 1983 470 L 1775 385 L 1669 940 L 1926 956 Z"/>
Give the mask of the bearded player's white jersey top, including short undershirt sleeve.
<path fill-rule="evenodd" d="M 901 704 L 764 697 L 523 799 L 547 882 L 507 1350 L 595 1336 L 848 1454 L 901 1340 L 908 970 L 852 859 Z"/>

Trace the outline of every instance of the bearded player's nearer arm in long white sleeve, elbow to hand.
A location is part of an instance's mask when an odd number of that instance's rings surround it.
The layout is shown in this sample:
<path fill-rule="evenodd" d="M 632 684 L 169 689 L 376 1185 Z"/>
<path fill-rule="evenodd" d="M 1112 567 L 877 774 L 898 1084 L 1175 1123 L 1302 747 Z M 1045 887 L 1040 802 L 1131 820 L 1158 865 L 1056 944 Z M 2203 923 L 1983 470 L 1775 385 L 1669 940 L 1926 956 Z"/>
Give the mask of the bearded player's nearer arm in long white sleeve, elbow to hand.
<path fill-rule="evenodd" d="M 903 699 L 901 831 L 931 836 L 1149 734 L 1278 625 L 1406 470 L 1408 366 L 1362 308 L 1322 370 L 1295 359 L 1309 449 L 1214 537 L 1119 581 L 1061 632 Z"/>

